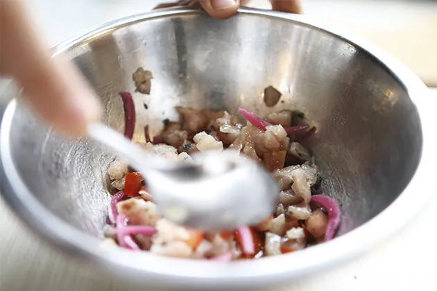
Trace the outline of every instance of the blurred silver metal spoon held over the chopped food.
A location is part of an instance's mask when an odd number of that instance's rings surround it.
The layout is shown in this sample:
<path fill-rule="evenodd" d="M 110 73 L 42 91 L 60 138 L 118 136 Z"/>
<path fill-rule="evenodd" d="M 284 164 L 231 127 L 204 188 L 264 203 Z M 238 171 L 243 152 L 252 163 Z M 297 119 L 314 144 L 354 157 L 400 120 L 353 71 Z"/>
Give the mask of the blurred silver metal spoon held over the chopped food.
<path fill-rule="evenodd" d="M 88 134 L 129 159 L 144 173 L 158 211 L 175 223 L 221 231 L 257 224 L 275 209 L 277 182 L 238 152 L 201 152 L 193 162 L 175 163 L 142 149 L 102 124 Z"/>

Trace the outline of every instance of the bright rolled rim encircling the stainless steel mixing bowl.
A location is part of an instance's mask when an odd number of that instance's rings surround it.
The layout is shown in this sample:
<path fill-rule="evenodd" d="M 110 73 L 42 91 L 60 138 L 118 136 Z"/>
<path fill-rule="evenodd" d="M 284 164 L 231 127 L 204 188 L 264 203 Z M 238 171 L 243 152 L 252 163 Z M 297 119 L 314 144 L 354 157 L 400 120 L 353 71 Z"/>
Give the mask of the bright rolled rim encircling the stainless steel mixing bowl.
<path fill-rule="evenodd" d="M 54 47 L 53 55 L 65 53 L 69 48 L 91 39 L 95 35 L 109 33 L 112 30 L 135 24 L 140 21 L 162 17 L 197 15 L 200 10 L 189 8 L 170 8 L 154 10 L 139 15 L 132 15 L 98 26 L 80 37 L 61 42 Z M 435 98 L 429 96 L 429 89 L 404 64 L 377 46 L 338 29 L 327 28 L 325 24 L 305 15 L 291 15 L 272 10 L 239 8 L 239 15 L 256 15 L 278 20 L 291 21 L 295 24 L 320 30 L 334 37 L 339 37 L 352 46 L 366 51 L 406 89 L 413 104 L 418 109 L 422 128 L 422 152 L 418 168 L 404 191 L 384 211 L 365 224 L 339 236 L 327 243 L 303 249 L 292 254 L 283 254 L 262 258 L 257 261 L 235 261 L 217 263 L 211 261 L 194 261 L 186 259 L 157 256 L 148 252 L 129 252 L 124 249 L 103 247 L 100 238 L 88 235 L 56 217 L 44 207 L 30 189 L 22 182 L 17 172 L 12 155 L 10 155 L 9 136 L 12 116 L 17 108 L 17 101 L 12 100 L 3 114 L 0 127 L 1 159 L 1 194 L 9 206 L 24 220 L 31 229 L 46 238 L 49 243 L 88 261 L 101 265 L 111 274 L 135 281 L 157 282 L 175 286 L 220 285 L 237 288 L 243 284 L 260 286 L 271 283 L 291 281 L 302 275 L 324 269 L 333 263 L 346 261 L 362 252 L 375 247 L 377 243 L 392 236 L 396 231 L 411 222 L 413 217 L 434 195 L 434 188 L 429 181 L 433 161 L 437 161 L 435 150 L 437 140 L 432 138 L 434 115 L 431 103 Z M 435 107 L 434 107 L 435 108 Z M 396 219 L 393 219 L 396 218 Z M 139 258 L 144 256 L 144 258 Z M 290 263 L 293 262 L 293 263 Z M 121 272 L 122 270 L 122 272 Z M 219 280 L 217 282 L 217 280 Z"/>

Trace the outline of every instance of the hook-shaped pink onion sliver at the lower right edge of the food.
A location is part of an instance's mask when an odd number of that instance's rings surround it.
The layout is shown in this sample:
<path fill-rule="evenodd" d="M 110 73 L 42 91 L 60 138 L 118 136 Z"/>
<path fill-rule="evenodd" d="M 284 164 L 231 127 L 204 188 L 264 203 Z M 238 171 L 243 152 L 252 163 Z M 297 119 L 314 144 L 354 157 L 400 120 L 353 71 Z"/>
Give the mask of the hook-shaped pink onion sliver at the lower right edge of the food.
<path fill-rule="evenodd" d="M 326 195 L 313 195 L 311 196 L 311 202 L 326 209 L 329 216 L 329 222 L 325 232 L 325 241 L 332 240 L 341 222 L 341 211 L 339 204 L 337 204 L 334 199 Z"/>

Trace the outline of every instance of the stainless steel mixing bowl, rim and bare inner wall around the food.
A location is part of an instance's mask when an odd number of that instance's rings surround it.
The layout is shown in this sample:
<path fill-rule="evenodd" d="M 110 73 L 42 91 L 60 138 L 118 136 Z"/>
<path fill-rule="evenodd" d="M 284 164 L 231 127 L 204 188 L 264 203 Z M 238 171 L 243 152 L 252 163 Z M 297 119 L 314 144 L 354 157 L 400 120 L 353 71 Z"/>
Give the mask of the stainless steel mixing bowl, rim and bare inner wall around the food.
<path fill-rule="evenodd" d="M 434 194 L 425 85 L 378 48 L 305 17 L 242 8 L 219 21 L 197 10 L 155 11 L 106 24 L 55 53 L 80 67 L 101 96 L 105 122 L 118 130 L 119 91 L 134 91 L 137 67 L 153 71 L 151 95 L 134 94 L 136 140 L 145 124 L 155 133 L 175 118 L 176 105 L 304 112 L 317 127 L 305 144 L 323 173 L 320 191 L 343 209 L 339 238 L 258 261 L 222 265 L 101 247 L 114 157 L 96 143 L 62 139 L 12 101 L 1 124 L 3 196 L 37 233 L 111 274 L 187 288 L 290 281 L 372 247 Z M 273 108 L 263 102 L 268 85 L 283 94 Z"/>

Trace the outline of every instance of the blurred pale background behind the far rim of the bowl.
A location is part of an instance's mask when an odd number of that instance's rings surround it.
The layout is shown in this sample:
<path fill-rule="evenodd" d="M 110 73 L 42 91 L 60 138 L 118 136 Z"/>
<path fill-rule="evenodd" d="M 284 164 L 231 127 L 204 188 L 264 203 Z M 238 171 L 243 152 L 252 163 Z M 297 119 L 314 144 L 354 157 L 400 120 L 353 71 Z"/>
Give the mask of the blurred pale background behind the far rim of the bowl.
<path fill-rule="evenodd" d="M 50 44 L 173 0 L 29 0 Z M 286 1 L 286 0 L 284 0 Z M 368 39 L 437 86 L 437 0 L 302 0 L 305 14 Z M 268 0 L 250 6 L 269 8 Z"/>

